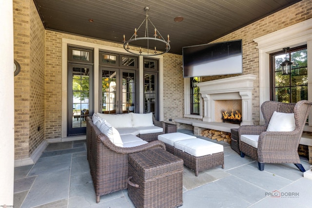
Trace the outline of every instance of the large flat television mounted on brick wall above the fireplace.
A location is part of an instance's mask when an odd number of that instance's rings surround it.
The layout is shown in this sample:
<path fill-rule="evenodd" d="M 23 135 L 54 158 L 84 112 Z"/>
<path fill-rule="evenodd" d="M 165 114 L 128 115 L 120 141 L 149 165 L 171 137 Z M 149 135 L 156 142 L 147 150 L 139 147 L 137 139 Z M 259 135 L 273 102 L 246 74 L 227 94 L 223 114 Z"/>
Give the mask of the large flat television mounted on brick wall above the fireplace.
<path fill-rule="evenodd" d="M 242 40 L 182 48 L 183 77 L 243 73 Z"/>

